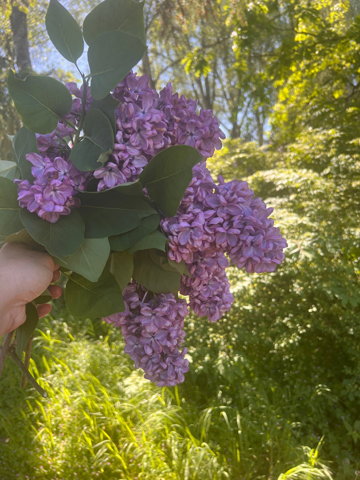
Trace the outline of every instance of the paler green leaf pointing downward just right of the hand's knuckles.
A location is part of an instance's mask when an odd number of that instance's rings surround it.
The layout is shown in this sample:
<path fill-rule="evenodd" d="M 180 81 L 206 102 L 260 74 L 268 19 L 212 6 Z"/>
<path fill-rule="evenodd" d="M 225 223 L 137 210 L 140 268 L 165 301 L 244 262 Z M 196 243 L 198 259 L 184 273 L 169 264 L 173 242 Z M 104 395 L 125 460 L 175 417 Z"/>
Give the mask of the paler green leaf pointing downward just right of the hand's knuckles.
<path fill-rule="evenodd" d="M 79 249 L 68 257 L 54 258 L 55 263 L 76 272 L 91 282 L 97 282 L 110 254 L 107 238 L 84 239 Z"/>

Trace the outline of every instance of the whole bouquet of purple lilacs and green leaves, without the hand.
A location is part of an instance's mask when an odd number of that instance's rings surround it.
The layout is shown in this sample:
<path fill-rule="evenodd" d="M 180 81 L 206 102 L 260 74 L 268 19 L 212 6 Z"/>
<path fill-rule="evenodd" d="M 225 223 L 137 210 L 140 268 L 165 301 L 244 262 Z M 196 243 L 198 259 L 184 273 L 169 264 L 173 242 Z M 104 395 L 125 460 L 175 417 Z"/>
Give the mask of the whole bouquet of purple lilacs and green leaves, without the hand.
<path fill-rule="evenodd" d="M 83 35 L 89 44 L 90 74 L 82 73 L 80 89 L 9 72 L 24 127 L 13 138 L 17 193 L 0 178 L 9 220 L 0 233 L 43 245 L 68 277 L 69 310 L 121 325 L 136 368 L 157 385 L 175 385 L 189 369 L 180 350 L 188 305 L 179 291 L 215 322 L 233 302 L 225 254 L 248 272 L 273 272 L 287 244 L 269 218 L 273 209 L 247 182 L 211 177 L 206 159 L 225 138 L 213 112 L 197 113 L 196 101 L 174 94 L 171 84 L 158 94 L 146 75 L 125 70 L 144 55 L 144 25 L 137 20 L 138 36 L 115 29 L 128 17 L 117 11 L 114 20 L 112 2 L 89 13 L 82 34 L 50 1 L 47 28 L 60 53 L 76 65 Z M 139 4 L 127 5 L 138 18 Z M 114 29 L 102 31 L 98 14 Z M 69 24 L 77 37 L 67 36 Z M 25 325 L 36 326 L 36 302 Z M 31 333 L 18 332 L 19 355 Z"/>

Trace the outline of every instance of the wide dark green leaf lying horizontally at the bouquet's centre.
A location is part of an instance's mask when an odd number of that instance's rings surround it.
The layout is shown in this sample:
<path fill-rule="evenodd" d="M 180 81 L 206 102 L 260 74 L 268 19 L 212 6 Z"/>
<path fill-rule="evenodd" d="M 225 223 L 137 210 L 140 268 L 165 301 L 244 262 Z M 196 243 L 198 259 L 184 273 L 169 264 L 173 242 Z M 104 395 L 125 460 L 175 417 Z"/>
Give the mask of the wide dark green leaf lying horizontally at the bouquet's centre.
<path fill-rule="evenodd" d="M 121 187 L 103 192 L 79 192 L 85 238 L 104 238 L 136 228 L 155 210 L 140 198 L 120 193 Z"/>

